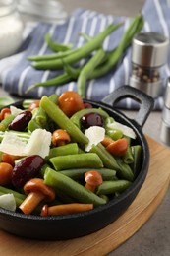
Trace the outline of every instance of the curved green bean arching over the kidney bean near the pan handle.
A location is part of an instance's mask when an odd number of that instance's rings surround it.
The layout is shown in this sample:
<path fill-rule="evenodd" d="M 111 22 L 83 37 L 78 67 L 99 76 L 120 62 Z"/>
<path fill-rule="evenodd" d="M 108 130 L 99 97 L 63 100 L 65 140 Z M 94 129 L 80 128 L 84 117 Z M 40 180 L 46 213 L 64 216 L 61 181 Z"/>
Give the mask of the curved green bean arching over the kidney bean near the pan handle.
<path fill-rule="evenodd" d="M 72 117 L 70 118 L 70 120 L 79 128 L 81 128 L 81 118 L 85 115 L 85 114 L 89 114 L 89 113 L 97 113 L 99 115 L 101 115 L 104 119 L 106 119 L 109 115 L 106 111 L 104 111 L 102 108 L 85 108 L 82 109 L 78 112 L 76 112 L 75 114 L 72 115 Z"/>

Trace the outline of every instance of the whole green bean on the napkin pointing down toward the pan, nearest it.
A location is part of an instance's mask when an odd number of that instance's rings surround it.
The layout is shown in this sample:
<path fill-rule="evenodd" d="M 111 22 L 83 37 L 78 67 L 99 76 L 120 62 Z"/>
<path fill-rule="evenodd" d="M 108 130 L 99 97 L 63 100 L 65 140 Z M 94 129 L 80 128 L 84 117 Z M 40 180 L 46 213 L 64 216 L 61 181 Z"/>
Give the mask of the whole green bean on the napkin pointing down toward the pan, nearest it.
<path fill-rule="evenodd" d="M 98 66 L 103 58 L 105 57 L 105 53 L 103 49 L 99 49 L 96 53 L 89 59 L 89 61 L 85 64 L 81 73 L 78 77 L 77 86 L 78 93 L 80 96 L 85 97 L 85 85 L 89 76 L 92 74 L 93 70 L 96 66 Z"/>

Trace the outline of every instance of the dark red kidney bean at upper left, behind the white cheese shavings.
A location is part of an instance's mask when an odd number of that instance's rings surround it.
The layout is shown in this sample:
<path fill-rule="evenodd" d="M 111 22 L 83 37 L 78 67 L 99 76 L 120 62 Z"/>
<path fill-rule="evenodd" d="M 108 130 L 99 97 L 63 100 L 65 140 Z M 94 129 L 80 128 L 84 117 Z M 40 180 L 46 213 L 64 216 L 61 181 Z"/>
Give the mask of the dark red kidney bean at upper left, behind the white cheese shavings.
<path fill-rule="evenodd" d="M 27 128 L 28 122 L 31 120 L 31 117 L 32 113 L 30 111 L 22 112 L 14 118 L 11 124 L 9 124 L 9 130 L 24 131 Z"/>

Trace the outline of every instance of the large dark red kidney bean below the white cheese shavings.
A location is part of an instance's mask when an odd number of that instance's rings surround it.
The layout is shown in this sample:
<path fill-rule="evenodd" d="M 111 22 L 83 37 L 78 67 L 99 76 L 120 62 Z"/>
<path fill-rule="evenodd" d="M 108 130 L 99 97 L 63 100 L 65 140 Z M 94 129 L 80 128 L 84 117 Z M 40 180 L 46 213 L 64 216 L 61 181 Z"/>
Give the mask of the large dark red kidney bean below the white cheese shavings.
<path fill-rule="evenodd" d="M 38 174 L 43 164 L 44 160 L 38 155 L 32 155 L 19 161 L 13 168 L 13 185 L 15 187 L 23 187 L 29 179 Z"/>

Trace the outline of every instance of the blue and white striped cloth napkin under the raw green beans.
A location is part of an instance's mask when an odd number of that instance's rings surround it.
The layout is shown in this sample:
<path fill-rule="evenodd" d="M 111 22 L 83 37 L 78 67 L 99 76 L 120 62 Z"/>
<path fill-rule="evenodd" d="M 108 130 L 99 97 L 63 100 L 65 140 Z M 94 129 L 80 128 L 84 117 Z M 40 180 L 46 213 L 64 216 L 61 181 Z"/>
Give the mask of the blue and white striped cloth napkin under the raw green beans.
<path fill-rule="evenodd" d="M 170 1 L 168 0 L 147 0 L 142 8 L 144 16 L 143 32 L 160 32 L 169 37 L 170 33 Z M 34 54 L 49 54 L 47 44 L 44 42 L 44 35 L 50 32 L 52 38 L 61 43 L 73 43 L 75 47 L 80 47 L 85 43 L 85 39 L 78 35 L 79 32 L 85 32 L 90 36 L 94 36 L 98 32 L 111 23 L 119 23 L 124 21 L 124 26 L 116 32 L 109 35 L 104 43 L 105 50 L 111 50 L 119 44 L 120 37 L 127 29 L 131 18 L 118 17 L 112 15 L 99 14 L 95 11 L 77 9 L 71 17 L 62 25 L 55 24 L 38 24 L 28 35 L 28 38 L 22 45 L 23 54 L 20 61 L 6 71 L 3 76 L 2 85 L 5 91 L 22 97 L 41 97 L 43 95 L 51 95 L 57 93 L 60 95 L 66 90 L 77 90 L 75 82 L 68 83 L 60 87 L 38 88 L 25 94 L 28 87 L 34 83 L 46 81 L 53 78 L 61 71 L 40 71 L 34 70 L 27 56 Z M 84 61 L 81 61 L 83 64 Z M 102 78 L 91 80 L 86 86 L 86 98 L 100 101 L 104 96 L 113 92 L 114 89 L 129 84 L 131 74 L 131 48 L 129 48 L 120 63 L 109 74 Z M 163 77 L 163 87 L 166 86 L 167 77 L 170 76 L 170 50 L 168 63 L 161 68 Z M 127 99 L 120 104 L 120 107 L 135 109 L 138 103 L 134 100 Z M 163 96 L 155 99 L 155 109 L 162 109 Z"/>

